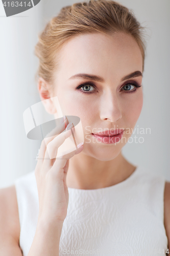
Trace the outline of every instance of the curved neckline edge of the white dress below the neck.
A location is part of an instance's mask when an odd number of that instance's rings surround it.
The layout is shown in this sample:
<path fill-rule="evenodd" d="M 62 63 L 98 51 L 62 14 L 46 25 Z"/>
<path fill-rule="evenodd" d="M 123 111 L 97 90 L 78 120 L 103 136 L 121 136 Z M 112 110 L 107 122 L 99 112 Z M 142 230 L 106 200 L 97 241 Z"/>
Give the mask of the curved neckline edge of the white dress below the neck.
<path fill-rule="evenodd" d="M 126 180 L 123 180 L 123 181 L 121 181 L 117 184 L 114 184 L 112 186 L 102 187 L 102 188 L 94 188 L 94 189 L 81 189 L 81 188 L 68 187 L 68 191 L 78 191 L 80 193 L 95 193 L 98 191 L 105 191 L 105 190 L 107 191 L 114 187 L 119 187 L 119 186 L 125 185 L 134 176 L 136 176 L 136 174 L 139 172 L 139 170 L 140 170 L 140 166 L 136 166 L 136 169 L 134 170 L 134 172 Z"/>

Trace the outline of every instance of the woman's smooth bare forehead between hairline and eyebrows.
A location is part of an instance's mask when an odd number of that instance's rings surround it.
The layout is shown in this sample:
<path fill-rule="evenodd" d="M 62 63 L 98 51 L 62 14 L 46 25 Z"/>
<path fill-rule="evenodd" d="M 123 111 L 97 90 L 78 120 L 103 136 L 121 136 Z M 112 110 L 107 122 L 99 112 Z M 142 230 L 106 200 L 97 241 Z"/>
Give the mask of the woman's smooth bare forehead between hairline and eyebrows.
<path fill-rule="evenodd" d="M 135 70 L 142 72 L 142 55 L 131 35 L 95 33 L 66 42 L 60 50 L 57 73 L 67 78 L 77 73 L 118 77 Z"/>

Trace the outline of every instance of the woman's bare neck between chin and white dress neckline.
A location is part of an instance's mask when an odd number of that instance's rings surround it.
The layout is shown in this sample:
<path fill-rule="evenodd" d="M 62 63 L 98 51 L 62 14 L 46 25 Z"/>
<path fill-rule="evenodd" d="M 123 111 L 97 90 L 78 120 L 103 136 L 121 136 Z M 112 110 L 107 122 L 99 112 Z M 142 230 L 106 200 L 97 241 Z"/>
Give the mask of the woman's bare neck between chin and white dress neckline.
<path fill-rule="evenodd" d="M 69 160 L 66 183 L 79 189 L 109 187 L 126 180 L 135 169 L 122 152 L 110 161 L 100 161 L 81 152 Z"/>

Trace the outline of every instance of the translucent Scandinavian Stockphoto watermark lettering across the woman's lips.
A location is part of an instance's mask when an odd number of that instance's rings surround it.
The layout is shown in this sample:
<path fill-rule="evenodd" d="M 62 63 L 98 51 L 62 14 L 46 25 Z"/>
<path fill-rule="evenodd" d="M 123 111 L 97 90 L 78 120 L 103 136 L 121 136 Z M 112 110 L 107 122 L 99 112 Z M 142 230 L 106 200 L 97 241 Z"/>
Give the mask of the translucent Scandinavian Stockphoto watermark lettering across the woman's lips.
<path fill-rule="evenodd" d="M 114 130 L 116 130 L 118 132 L 118 129 L 120 130 L 124 130 L 122 132 L 122 136 L 112 136 L 112 134 L 114 135 Z M 103 138 L 101 139 L 100 136 L 91 136 L 91 134 L 96 134 L 96 133 L 100 133 L 100 132 L 104 132 L 104 131 L 110 131 L 111 135 L 108 136 L 107 138 Z M 93 128 L 92 130 L 90 130 L 90 126 L 86 126 L 85 127 L 85 139 L 86 139 L 86 143 L 143 143 L 144 142 L 144 137 L 143 135 L 148 135 L 151 134 L 151 128 L 143 128 L 143 127 L 139 127 L 139 125 L 137 125 L 137 127 L 135 127 L 134 129 L 127 127 L 126 129 L 124 127 L 117 127 L 114 125 L 114 127 L 112 129 L 102 129 L 102 128 Z M 105 140 L 106 139 L 106 140 Z"/>

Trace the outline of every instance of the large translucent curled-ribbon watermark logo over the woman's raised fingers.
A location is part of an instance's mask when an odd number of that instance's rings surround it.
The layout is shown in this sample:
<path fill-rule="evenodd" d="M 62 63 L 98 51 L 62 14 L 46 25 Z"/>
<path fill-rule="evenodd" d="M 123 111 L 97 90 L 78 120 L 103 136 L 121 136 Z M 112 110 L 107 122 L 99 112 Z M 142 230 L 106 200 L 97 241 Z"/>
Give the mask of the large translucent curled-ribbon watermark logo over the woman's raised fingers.
<path fill-rule="evenodd" d="M 48 104 L 49 100 L 53 101 L 57 110 L 54 115 L 45 111 L 44 105 Z M 45 143 L 47 154 L 43 159 L 48 160 L 56 158 L 61 160 L 61 157 L 63 159 L 63 156 L 77 150 L 79 146 L 84 143 L 84 133 L 80 117 L 65 116 L 61 110 L 57 96 L 41 100 L 27 108 L 23 112 L 23 123 L 28 139 L 43 140 L 43 143 Z M 71 123 L 74 127 L 71 126 Z M 68 130 L 71 131 L 71 135 L 65 138 L 64 142 L 58 146 L 57 150 L 49 146 L 50 141 L 57 136 L 60 135 L 64 138 L 64 133 Z M 37 158 L 40 159 L 39 153 L 36 160 Z"/>

